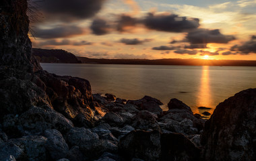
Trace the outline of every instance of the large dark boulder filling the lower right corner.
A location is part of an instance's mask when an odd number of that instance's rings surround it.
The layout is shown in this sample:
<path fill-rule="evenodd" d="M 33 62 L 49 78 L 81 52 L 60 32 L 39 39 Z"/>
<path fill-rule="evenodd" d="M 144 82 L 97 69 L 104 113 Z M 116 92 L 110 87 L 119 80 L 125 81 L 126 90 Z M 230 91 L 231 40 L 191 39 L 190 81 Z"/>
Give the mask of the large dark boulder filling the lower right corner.
<path fill-rule="evenodd" d="M 202 160 L 256 160 L 256 89 L 220 103 L 205 122 Z"/>

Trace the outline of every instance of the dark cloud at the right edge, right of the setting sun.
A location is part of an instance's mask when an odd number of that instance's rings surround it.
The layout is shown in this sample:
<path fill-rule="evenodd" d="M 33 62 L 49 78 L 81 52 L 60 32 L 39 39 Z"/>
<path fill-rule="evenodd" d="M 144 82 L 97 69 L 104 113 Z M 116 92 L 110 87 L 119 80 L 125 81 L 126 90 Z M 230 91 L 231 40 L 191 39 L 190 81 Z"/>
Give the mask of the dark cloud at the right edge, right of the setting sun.
<path fill-rule="evenodd" d="M 232 46 L 230 50 L 241 52 L 241 54 L 256 54 L 256 36 L 251 36 L 251 40 L 245 42 L 241 46 Z"/>

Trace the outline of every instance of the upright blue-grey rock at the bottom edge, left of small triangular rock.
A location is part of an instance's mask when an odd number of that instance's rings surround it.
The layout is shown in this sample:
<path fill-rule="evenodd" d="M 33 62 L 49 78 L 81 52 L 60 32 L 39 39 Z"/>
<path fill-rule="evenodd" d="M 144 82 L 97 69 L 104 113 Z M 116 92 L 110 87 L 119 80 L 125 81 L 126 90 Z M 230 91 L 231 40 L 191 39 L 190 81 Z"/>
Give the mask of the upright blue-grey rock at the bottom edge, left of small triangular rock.
<path fill-rule="evenodd" d="M 63 158 L 69 151 L 63 136 L 57 129 L 46 129 L 44 136 L 47 138 L 46 149 L 49 151 L 51 158 L 58 160 Z"/>

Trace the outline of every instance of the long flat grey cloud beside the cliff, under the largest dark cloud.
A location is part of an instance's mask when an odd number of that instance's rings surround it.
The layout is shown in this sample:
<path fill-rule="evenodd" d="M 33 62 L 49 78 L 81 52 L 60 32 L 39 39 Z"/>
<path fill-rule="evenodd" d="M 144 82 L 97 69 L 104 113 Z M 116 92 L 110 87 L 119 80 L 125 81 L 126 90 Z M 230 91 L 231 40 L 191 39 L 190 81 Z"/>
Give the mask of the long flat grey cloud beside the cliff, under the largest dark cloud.
<path fill-rule="evenodd" d="M 71 36 L 77 36 L 84 34 L 84 30 L 75 25 L 63 25 L 56 28 L 51 29 L 34 29 L 34 36 L 36 38 L 69 38 Z"/>

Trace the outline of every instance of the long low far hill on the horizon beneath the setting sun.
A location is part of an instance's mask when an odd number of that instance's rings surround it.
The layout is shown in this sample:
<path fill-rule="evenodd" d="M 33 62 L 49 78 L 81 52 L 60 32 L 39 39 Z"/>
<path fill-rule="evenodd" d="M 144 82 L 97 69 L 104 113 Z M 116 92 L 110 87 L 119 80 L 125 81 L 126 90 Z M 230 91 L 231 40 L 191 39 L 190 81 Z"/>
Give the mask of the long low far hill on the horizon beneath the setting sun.
<path fill-rule="evenodd" d="M 256 60 L 202 60 L 202 59 L 96 59 L 79 57 L 86 64 L 148 64 L 148 65 L 187 65 L 187 66 L 256 66 Z"/>

